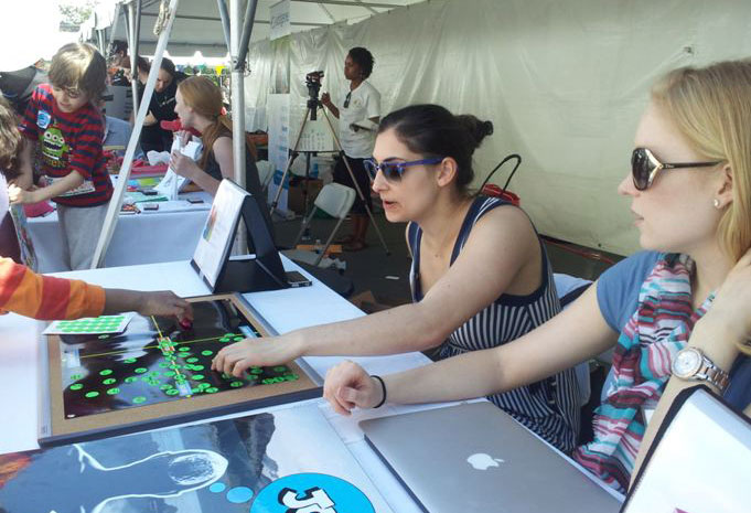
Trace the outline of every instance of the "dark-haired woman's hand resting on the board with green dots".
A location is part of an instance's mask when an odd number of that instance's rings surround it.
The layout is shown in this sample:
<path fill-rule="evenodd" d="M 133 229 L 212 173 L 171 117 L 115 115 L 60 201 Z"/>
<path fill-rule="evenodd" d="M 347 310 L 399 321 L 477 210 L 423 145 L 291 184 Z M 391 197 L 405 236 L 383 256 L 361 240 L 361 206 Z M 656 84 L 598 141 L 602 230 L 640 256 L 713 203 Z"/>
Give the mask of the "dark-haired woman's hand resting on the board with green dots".
<path fill-rule="evenodd" d="M 242 377 L 251 366 L 281 365 L 301 355 L 296 344 L 280 336 L 245 339 L 216 353 L 212 370 Z"/>

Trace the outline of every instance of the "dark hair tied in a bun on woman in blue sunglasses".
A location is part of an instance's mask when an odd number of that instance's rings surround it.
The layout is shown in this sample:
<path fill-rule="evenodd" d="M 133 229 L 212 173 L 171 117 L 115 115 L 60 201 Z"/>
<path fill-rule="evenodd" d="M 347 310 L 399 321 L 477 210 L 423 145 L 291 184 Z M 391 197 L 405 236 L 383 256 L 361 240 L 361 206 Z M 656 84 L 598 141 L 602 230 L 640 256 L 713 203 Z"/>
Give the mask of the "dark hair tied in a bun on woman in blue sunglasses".
<path fill-rule="evenodd" d="M 409 151 L 430 157 L 451 157 L 457 161 L 457 186 L 465 192 L 474 179 L 472 153 L 493 133 L 491 121 L 464 114 L 454 116 L 440 105 L 410 105 L 393 111 L 378 125 L 378 133 L 394 129 Z"/>

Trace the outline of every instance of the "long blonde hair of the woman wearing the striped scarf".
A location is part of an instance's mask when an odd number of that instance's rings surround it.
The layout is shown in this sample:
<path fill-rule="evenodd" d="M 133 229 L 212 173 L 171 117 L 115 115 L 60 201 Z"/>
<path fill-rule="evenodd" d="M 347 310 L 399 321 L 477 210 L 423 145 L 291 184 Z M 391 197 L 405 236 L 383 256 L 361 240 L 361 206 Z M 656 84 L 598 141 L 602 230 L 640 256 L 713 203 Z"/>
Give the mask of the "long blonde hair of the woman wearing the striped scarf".
<path fill-rule="evenodd" d="M 751 61 L 675 70 L 655 84 L 652 99 L 702 158 L 732 169 L 732 203 L 717 237 L 738 261 L 751 247 Z M 751 354 L 751 345 L 739 348 Z"/>

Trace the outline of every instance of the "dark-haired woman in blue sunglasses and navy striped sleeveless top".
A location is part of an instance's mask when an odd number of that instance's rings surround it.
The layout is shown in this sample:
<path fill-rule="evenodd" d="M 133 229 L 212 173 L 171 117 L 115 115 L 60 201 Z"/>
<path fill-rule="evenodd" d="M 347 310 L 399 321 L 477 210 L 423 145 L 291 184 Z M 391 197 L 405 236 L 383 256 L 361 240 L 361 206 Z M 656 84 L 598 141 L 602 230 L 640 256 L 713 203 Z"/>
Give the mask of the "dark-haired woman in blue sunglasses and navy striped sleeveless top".
<path fill-rule="evenodd" d="M 213 367 L 303 355 L 426 351 L 441 357 L 505 344 L 559 311 L 548 259 L 529 217 L 498 199 L 474 196 L 472 153 L 492 125 L 437 105 L 389 114 L 378 128 L 373 190 L 386 218 L 408 222 L 414 302 L 355 320 L 224 348 Z M 466 376 L 474 380 L 476 376 Z M 572 370 L 489 398 L 562 450 L 575 447 L 579 407 Z"/>

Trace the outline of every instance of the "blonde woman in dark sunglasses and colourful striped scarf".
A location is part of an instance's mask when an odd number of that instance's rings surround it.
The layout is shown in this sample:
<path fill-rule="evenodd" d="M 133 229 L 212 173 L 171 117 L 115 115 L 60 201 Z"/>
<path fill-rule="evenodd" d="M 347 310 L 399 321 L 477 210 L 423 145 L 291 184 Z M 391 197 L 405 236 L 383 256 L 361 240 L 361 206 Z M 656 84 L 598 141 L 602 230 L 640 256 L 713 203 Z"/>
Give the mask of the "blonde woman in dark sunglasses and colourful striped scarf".
<path fill-rule="evenodd" d="M 751 62 L 680 68 L 642 117 L 619 186 L 647 249 L 605 271 L 569 308 L 512 343 L 400 374 L 344 362 L 324 397 L 356 407 L 478 397 L 545 378 L 613 346 L 594 440 L 573 458 L 625 491 L 665 412 L 702 383 L 751 414 Z M 471 378 L 468 378 L 471 376 Z M 707 455 L 708 460 L 717 455 Z"/>

